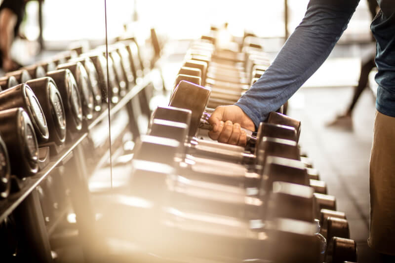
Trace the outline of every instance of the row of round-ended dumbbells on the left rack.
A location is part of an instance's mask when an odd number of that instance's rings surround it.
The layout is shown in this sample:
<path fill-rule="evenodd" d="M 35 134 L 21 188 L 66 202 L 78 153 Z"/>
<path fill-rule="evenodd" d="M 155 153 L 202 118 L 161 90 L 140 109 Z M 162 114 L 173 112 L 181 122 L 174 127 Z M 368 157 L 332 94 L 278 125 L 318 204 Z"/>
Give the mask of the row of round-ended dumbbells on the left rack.
<path fill-rule="evenodd" d="M 118 103 L 142 80 L 136 41 L 118 41 L 108 52 L 109 79 L 105 46 L 66 51 L 0 78 L 1 198 L 9 194 L 10 175 L 22 179 L 43 169 L 48 155 L 86 131 L 108 100 Z"/>

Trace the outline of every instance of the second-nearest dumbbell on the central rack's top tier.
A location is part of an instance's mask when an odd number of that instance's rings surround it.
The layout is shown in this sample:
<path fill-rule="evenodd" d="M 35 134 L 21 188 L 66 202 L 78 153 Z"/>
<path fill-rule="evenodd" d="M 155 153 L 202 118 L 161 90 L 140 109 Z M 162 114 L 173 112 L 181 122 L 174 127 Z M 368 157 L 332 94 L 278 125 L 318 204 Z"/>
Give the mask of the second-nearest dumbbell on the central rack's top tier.
<path fill-rule="evenodd" d="M 210 214 L 239 217 L 245 220 L 264 220 L 265 202 L 269 198 L 260 198 L 257 194 L 249 193 L 249 188 L 230 187 L 220 183 L 210 183 L 186 178 L 182 174 L 165 173 L 163 164 L 133 159 L 133 167 L 145 165 L 150 167 L 150 173 L 134 172 L 131 180 L 131 194 L 160 202 L 166 198 L 169 204 L 177 209 L 190 209 Z M 287 184 L 287 188 L 284 186 Z M 314 221 L 314 196 L 309 187 L 276 182 L 274 194 L 277 198 L 270 200 L 285 218 Z M 276 187 L 278 185 L 278 187 Z M 282 188 L 280 187 L 282 186 Z M 282 197 L 282 199 L 280 199 Z M 291 201 L 293 208 L 287 208 L 279 201 Z M 297 209 L 295 209 L 297 207 Z M 270 213 L 272 218 L 275 216 Z"/>

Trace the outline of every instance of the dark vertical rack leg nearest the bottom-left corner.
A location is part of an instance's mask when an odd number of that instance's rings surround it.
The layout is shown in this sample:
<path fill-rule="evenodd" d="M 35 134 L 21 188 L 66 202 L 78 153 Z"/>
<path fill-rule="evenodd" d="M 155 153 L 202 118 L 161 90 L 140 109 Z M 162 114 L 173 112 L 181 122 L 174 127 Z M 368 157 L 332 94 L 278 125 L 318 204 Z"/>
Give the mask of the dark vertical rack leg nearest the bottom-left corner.
<path fill-rule="evenodd" d="M 37 190 L 33 190 L 13 212 L 18 235 L 18 260 L 51 263 L 51 247 Z"/>

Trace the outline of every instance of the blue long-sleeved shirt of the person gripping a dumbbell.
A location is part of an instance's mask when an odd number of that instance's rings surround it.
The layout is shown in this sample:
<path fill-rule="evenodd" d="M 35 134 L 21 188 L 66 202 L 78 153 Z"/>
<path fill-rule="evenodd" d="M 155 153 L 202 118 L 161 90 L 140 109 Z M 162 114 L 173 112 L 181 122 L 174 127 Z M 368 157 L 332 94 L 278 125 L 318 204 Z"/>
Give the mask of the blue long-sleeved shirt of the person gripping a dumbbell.
<path fill-rule="evenodd" d="M 305 17 L 273 64 L 236 103 L 256 127 L 322 65 L 347 28 L 358 2 L 310 0 Z M 377 39 L 376 108 L 395 117 L 395 3 L 393 0 L 378 0 L 378 3 L 382 11 L 371 25 Z"/>

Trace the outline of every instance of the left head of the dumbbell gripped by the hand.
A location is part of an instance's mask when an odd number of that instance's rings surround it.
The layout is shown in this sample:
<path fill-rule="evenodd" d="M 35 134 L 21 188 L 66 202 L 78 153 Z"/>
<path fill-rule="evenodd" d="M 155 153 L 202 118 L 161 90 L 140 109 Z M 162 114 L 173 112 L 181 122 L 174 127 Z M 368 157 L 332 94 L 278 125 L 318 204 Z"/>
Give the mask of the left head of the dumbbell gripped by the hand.
<path fill-rule="evenodd" d="M 189 135 L 194 136 L 206 108 L 210 89 L 182 80 L 174 90 L 169 106 L 192 111 Z"/>

